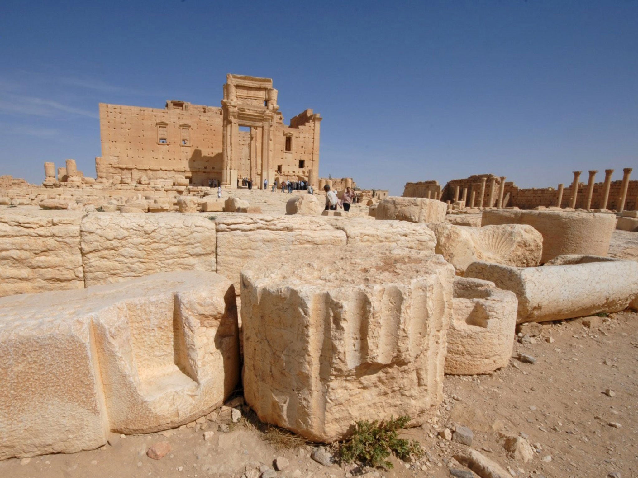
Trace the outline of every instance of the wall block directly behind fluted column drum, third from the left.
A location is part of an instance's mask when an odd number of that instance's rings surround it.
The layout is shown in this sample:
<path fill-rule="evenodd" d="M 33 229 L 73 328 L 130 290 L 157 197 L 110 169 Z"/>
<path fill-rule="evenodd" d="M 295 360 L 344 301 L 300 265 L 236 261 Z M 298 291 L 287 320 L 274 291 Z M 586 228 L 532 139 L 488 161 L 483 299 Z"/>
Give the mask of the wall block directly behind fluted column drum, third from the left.
<path fill-rule="evenodd" d="M 277 264 L 281 264 L 298 249 L 314 255 L 317 250 L 346 244 L 346 234 L 320 217 L 225 216 L 216 217 L 215 222 L 217 272 L 234 282 L 237 293 L 239 273 L 249 261 L 279 254 Z"/>

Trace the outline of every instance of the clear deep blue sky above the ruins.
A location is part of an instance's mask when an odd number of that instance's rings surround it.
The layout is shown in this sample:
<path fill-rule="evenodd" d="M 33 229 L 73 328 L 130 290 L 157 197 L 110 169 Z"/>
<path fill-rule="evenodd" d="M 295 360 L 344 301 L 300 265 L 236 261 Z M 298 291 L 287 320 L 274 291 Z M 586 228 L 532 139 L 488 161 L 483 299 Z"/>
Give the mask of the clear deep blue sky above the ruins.
<path fill-rule="evenodd" d="M 273 78 L 321 113 L 320 175 L 408 181 L 638 177 L 638 1 L 13 1 L 0 4 L 0 175 L 95 175 L 98 103 L 219 106 Z"/>

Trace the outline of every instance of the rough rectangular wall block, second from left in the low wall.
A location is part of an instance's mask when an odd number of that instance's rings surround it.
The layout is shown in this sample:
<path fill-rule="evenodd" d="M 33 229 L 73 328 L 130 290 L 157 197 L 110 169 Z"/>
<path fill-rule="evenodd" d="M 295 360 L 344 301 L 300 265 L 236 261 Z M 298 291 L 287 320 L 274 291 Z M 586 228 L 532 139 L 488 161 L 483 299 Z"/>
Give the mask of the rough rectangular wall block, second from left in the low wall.
<path fill-rule="evenodd" d="M 89 214 L 80 225 L 87 287 L 158 272 L 215 271 L 215 224 L 170 213 Z"/>

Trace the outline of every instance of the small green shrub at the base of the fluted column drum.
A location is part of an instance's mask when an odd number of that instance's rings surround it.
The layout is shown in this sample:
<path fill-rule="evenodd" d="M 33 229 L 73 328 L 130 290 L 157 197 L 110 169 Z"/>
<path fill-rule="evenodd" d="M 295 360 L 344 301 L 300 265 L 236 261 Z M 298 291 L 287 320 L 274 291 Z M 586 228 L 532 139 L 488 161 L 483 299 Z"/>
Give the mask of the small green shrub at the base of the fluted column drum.
<path fill-rule="evenodd" d="M 357 422 L 357 428 L 352 437 L 345 440 L 339 446 L 339 456 L 343 463 L 355 461 L 371 467 L 392 468 L 392 463 L 386 460 L 390 454 L 394 454 L 403 461 L 410 460 L 412 455 L 422 456 L 423 449 L 417 440 L 404 440 L 398 438 L 406 424 L 410 422 L 409 416 L 401 416 L 389 421 L 372 423 L 363 420 Z"/>

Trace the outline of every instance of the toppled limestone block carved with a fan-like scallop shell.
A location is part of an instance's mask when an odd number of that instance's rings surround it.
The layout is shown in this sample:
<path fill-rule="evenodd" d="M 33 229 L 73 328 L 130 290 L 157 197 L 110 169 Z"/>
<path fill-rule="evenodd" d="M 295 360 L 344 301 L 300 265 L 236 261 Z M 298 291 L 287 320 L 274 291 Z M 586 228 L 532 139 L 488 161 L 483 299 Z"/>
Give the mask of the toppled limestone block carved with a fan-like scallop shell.
<path fill-rule="evenodd" d="M 445 257 L 459 275 L 475 261 L 515 267 L 540 264 L 543 236 L 526 224 L 471 228 L 439 222 L 430 227 L 436 235 L 436 253 Z"/>

